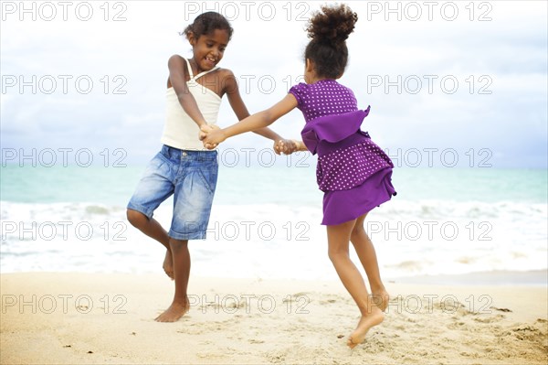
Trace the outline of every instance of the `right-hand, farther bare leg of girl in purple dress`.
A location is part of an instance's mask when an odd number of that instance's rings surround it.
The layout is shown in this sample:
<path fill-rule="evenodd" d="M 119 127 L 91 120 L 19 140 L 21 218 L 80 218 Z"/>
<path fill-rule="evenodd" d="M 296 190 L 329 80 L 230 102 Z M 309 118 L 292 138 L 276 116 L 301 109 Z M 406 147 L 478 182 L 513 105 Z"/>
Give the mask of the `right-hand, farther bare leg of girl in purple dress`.
<path fill-rule="evenodd" d="M 363 216 L 356 220 L 350 241 L 353 243 L 354 249 L 360 258 L 360 262 L 364 266 L 365 274 L 371 286 L 371 294 L 373 295 L 374 304 L 381 310 L 385 310 L 388 306 L 390 296 L 386 292 L 385 284 L 381 280 L 379 272 L 379 264 L 377 262 L 376 253 L 374 252 L 373 242 L 364 230 L 364 220 L 367 216 Z"/>

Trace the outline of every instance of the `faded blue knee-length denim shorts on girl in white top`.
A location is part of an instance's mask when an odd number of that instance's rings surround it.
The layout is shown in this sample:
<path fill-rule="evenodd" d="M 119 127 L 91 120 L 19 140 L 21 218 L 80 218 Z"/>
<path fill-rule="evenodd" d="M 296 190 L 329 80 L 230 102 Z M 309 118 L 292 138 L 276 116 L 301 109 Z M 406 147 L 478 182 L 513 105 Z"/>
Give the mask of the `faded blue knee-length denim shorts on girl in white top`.
<path fill-rule="evenodd" d="M 187 151 L 163 145 L 151 160 L 128 209 L 149 219 L 174 194 L 169 236 L 175 240 L 204 240 L 218 173 L 216 151 Z"/>

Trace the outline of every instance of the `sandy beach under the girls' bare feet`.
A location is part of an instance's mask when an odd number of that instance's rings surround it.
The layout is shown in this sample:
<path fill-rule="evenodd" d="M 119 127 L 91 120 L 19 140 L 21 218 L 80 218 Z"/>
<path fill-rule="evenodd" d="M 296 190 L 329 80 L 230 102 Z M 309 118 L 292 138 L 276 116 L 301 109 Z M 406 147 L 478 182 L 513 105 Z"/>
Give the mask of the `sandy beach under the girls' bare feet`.
<path fill-rule="evenodd" d="M 545 286 L 389 282 L 385 322 L 359 318 L 338 282 L 191 277 L 191 310 L 162 274 L 2 274 L 2 364 L 545 364 Z"/>

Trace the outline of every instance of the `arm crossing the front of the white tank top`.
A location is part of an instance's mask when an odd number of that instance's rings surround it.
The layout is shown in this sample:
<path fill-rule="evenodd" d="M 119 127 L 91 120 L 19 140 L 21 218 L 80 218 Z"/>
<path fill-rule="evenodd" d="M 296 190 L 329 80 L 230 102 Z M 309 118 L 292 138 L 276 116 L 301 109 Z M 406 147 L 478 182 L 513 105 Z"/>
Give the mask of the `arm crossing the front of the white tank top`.
<path fill-rule="evenodd" d="M 198 127 L 207 125 L 204 115 L 200 112 L 194 96 L 186 86 L 188 70 L 186 70 L 186 62 L 184 59 L 179 55 L 174 55 L 167 62 L 167 67 L 169 68 L 169 81 L 167 86 L 173 86 L 184 112 L 198 124 Z"/>

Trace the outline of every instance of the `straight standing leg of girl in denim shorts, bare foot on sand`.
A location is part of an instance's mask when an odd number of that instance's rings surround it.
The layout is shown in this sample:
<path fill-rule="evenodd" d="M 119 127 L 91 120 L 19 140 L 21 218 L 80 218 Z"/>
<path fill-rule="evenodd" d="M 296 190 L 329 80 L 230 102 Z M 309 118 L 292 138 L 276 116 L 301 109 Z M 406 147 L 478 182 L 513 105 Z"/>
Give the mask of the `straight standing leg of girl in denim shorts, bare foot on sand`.
<path fill-rule="evenodd" d="M 188 312 L 190 307 L 188 296 L 186 295 L 188 278 L 190 276 L 188 241 L 170 238 L 169 245 L 174 256 L 175 295 L 172 305 L 160 316 L 156 317 L 155 320 L 158 322 L 174 322 L 183 317 L 184 313 Z"/>

